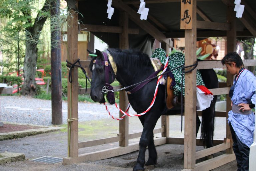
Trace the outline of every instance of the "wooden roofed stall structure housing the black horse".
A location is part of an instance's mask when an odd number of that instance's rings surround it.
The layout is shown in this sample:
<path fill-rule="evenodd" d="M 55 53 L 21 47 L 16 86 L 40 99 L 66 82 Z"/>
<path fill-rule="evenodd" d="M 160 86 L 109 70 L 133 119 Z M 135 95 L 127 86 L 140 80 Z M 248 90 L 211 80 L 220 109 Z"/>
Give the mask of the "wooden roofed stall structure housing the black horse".
<path fill-rule="evenodd" d="M 187 0 L 186 0 L 187 1 Z M 185 2 L 186 2 L 185 1 Z M 242 18 L 236 18 L 234 12 L 233 0 L 188 0 L 191 4 L 183 3 L 183 0 L 145 0 L 146 7 L 149 6 L 149 15 L 147 20 L 140 20 L 137 13 L 139 0 L 113 0 L 112 7 L 115 8 L 112 17 L 115 23 L 110 25 L 108 22 L 97 20 L 96 15 L 103 10 L 104 21 L 107 19 L 107 1 L 105 0 L 69 0 L 68 18 L 68 56 L 71 63 L 78 58 L 77 55 L 77 35 L 78 30 L 83 29 L 99 35 L 114 35 L 114 43 L 109 43 L 114 47 L 118 44 L 121 49 L 131 48 L 129 38 L 136 37 L 141 31 L 161 42 L 161 47 L 167 50 L 170 47 L 171 38 L 185 37 L 185 66 L 192 65 L 196 62 L 196 41 L 200 37 L 217 37 L 225 36 L 227 40 L 227 52 L 236 51 L 236 40 L 239 37 L 256 37 L 256 2 L 254 0 L 242 0 L 241 4 L 245 5 Z M 72 2 L 75 2 L 73 4 Z M 168 7 L 168 8 L 167 8 Z M 217 9 L 212 9 L 217 7 Z M 90 11 L 90 9 L 92 9 Z M 171 14 L 171 10 L 178 11 Z M 184 10 L 189 9 L 190 22 L 181 20 L 184 17 Z M 212 9 L 212 10 L 211 10 Z M 83 24 L 78 24 L 78 13 L 83 15 Z M 221 12 L 217 17 L 211 15 L 213 12 Z M 152 11 L 152 13 L 151 13 Z M 85 13 L 84 13 L 85 12 Z M 115 13 L 117 15 L 115 16 Z M 95 15 L 94 15 L 95 14 Z M 167 15 L 167 16 L 163 16 Z M 161 20 L 161 17 L 167 17 L 171 20 L 168 22 Z M 213 19 L 215 18 L 215 19 Z M 221 22 L 218 20 L 221 18 Z M 81 18 L 80 18 L 81 19 Z M 117 20 L 115 20 L 117 19 Z M 86 22 L 86 21 L 90 22 Z M 111 19 L 112 20 L 112 19 Z M 96 22 L 97 21 L 97 22 Z M 117 21 L 117 22 L 116 22 Z M 188 22 L 188 21 L 186 21 Z M 136 27 L 130 27 L 130 23 Z M 170 23 L 176 23 L 172 27 Z M 178 25 L 178 26 L 177 26 Z M 104 36 L 102 36 L 104 38 Z M 117 38 L 117 39 L 115 39 Z M 106 41 L 110 39 L 106 38 Z M 134 39 L 133 39 L 134 40 Z M 255 66 L 255 60 L 244 60 L 245 66 Z M 83 67 L 88 67 L 88 61 L 81 61 Z M 220 61 L 202 61 L 198 62 L 197 69 L 222 68 Z M 190 69 L 190 68 L 188 68 Z M 72 69 L 73 82 L 68 82 L 68 118 L 78 118 L 78 94 L 84 94 L 85 89 L 78 86 L 78 68 Z M 196 152 L 196 145 L 201 145 L 196 139 L 196 70 L 185 74 L 185 130 L 183 138 L 169 137 L 169 118 L 162 116 L 162 128 L 155 129 L 154 133 L 162 133 L 162 137 L 155 139 L 155 145 L 161 144 L 184 144 L 184 169 L 183 171 L 208 171 L 235 160 L 232 151 L 232 137 L 226 126 L 226 137 L 224 141 L 214 140 L 216 146 Z M 210 89 L 214 95 L 228 94 L 233 84 L 233 76 L 227 74 L 227 82 L 220 85 L 220 88 Z M 189 86 L 188 86 L 189 85 Z M 115 88 L 117 89 L 117 88 Z M 90 92 L 90 90 L 87 90 Z M 227 95 L 227 111 L 231 110 L 230 98 Z M 126 92 L 120 92 L 120 108 L 124 110 L 128 104 Z M 191 112 L 192 111 L 192 112 Z M 122 116 L 122 115 L 121 115 Z M 216 116 L 227 117 L 227 112 L 216 112 Z M 139 143 L 129 144 L 128 140 L 140 137 L 141 133 L 128 133 L 128 117 L 119 121 L 119 134 L 114 137 L 98 139 L 94 141 L 78 142 L 78 120 L 68 123 L 68 144 L 69 156 L 63 159 L 63 164 L 72 164 L 82 161 L 95 161 L 130 153 L 139 149 Z M 78 154 L 79 148 L 101 145 L 106 143 L 119 142 L 119 147 L 95 151 L 92 153 Z M 226 153 L 218 157 L 196 163 L 196 159 L 226 150 Z"/>

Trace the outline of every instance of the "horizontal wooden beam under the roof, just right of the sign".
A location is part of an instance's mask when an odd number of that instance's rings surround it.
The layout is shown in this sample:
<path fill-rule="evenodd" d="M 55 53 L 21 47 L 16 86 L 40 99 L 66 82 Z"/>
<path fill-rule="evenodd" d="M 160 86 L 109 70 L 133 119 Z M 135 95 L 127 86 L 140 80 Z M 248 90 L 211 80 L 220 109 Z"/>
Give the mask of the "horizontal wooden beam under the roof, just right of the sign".
<path fill-rule="evenodd" d="M 197 21 L 198 29 L 210 29 L 210 30 L 230 30 L 229 23 L 218 23 L 218 22 L 208 22 L 208 21 Z"/>

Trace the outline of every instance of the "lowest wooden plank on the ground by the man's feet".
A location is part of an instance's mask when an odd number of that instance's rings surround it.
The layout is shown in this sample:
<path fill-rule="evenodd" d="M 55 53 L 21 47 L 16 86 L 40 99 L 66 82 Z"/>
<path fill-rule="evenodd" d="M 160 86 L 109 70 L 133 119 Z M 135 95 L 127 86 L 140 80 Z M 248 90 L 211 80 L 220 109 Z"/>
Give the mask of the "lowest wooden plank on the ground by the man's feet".
<path fill-rule="evenodd" d="M 236 156 L 234 154 L 222 154 L 212 159 L 197 163 L 194 169 L 183 169 L 182 171 L 209 171 L 235 159 Z"/>

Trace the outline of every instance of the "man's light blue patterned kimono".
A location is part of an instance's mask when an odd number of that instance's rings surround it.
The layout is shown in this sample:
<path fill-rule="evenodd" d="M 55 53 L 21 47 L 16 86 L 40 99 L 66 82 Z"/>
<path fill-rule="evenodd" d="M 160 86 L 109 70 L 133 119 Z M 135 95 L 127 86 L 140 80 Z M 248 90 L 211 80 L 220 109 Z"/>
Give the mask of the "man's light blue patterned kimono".
<path fill-rule="evenodd" d="M 233 104 L 255 104 L 255 87 L 255 76 L 248 70 L 243 71 L 234 87 L 234 93 L 231 98 Z M 249 115 L 243 115 L 233 113 L 231 110 L 228 113 L 228 121 L 231 123 L 240 141 L 250 147 L 253 143 L 255 125 L 254 113 L 252 112 Z"/>

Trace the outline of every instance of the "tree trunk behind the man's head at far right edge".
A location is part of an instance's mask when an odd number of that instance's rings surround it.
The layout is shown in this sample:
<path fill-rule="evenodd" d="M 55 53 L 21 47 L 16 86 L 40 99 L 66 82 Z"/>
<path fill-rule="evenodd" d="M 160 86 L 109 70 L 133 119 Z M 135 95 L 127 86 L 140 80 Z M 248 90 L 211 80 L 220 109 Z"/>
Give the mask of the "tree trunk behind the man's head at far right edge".
<path fill-rule="evenodd" d="M 253 46 L 255 43 L 255 38 L 245 40 L 242 43 L 243 43 L 243 49 L 244 49 L 244 59 L 254 59 Z M 255 66 L 249 66 L 246 68 L 255 75 Z"/>

